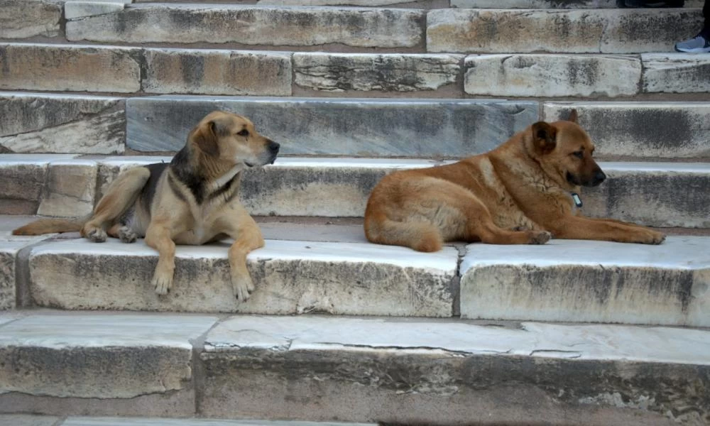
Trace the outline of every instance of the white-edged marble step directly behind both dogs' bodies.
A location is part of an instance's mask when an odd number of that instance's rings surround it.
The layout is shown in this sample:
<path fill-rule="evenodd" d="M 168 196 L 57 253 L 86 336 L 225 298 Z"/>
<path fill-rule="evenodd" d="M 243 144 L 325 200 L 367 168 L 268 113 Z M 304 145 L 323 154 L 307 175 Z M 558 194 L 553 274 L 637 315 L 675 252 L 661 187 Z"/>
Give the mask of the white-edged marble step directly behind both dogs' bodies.
<path fill-rule="evenodd" d="M 77 158 L 0 154 L 0 214 L 76 217 L 92 211 L 121 170 L 170 157 Z M 372 188 L 393 170 L 445 162 L 386 158 L 278 158 L 247 170 L 241 200 L 256 216 L 362 217 Z M 648 226 L 710 228 L 710 163 L 601 162 L 608 179 L 581 193 L 584 212 Z"/>

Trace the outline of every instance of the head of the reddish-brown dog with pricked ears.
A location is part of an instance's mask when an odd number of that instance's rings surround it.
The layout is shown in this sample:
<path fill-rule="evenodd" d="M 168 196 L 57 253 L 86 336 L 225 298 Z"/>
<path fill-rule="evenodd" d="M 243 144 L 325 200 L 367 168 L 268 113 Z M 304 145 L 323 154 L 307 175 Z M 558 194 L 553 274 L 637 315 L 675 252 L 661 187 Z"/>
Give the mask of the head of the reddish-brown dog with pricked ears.
<path fill-rule="evenodd" d="M 606 179 L 592 158 L 594 143 L 577 124 L 576 109 L 567 121 L 538 121 L 530 126 L 530 131 L 533 155 L 562 187 L 594 187 Z"/>

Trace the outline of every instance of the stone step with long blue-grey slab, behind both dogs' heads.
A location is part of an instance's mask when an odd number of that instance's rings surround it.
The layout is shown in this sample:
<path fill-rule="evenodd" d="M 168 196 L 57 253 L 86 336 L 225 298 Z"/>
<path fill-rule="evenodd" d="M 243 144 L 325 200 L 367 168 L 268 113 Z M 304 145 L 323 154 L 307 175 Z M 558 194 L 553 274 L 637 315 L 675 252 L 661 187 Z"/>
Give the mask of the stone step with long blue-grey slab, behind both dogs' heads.
<path fill-rule="evenodd" d="M 461 158 L 574 108 L 603 160 L 710 158 L 710 102 L 95 97 L 0 92 L 0 152 L 176 151 L 215 109 L 249 116 L 282 155 Z M 603 125 L 601 125 L 603 124 Z"/>

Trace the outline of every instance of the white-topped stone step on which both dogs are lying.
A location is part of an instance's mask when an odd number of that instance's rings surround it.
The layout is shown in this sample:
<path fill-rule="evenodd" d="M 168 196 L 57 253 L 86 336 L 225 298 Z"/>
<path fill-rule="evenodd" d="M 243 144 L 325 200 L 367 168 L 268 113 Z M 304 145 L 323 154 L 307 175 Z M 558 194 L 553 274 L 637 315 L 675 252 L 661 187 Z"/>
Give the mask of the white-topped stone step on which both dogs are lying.
<path fill-rule="evenodd" d="M 236 301 L 229 241 L 178 246 L 170 295 L 150 285 L 157 253 L 142 240 L 9 236 L 0 305 L 64 310 L 452 317 L 710 327 L 710 238 L 660 246 L 552 240 L 540 247 L 460 244 L 437 253 L 368 244 L 361 224 L 263 222 L 249 255 L 256 285 Z M 454 249 L 454 246 L 458 249 Z M 460 264 L 460 266 L 458 266 Z M 80 267 L 79 267 L 80 266 Z M 459 290 L 460 284 L 460 290 Z"/>

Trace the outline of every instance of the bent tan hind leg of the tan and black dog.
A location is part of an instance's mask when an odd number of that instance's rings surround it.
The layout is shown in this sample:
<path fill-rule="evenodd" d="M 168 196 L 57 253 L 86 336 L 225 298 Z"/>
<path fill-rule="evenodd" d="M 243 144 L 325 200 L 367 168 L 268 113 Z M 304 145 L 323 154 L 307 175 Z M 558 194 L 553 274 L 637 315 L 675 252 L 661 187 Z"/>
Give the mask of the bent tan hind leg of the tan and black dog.
<path fill-rule="evenodd" d="M 151 172 L 144 167 L 132 168 L 121 173 L 114 182 L 111 182 L 106 194 L 94 209 L 91 219 L 82 227 L 82 236 L 97 243 L 106 241 L 107 228 L 136 202 L 136 198 L 150 177 Z"/>

